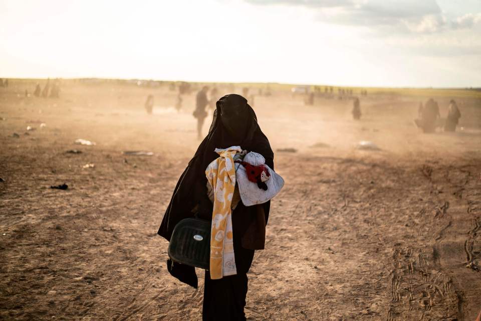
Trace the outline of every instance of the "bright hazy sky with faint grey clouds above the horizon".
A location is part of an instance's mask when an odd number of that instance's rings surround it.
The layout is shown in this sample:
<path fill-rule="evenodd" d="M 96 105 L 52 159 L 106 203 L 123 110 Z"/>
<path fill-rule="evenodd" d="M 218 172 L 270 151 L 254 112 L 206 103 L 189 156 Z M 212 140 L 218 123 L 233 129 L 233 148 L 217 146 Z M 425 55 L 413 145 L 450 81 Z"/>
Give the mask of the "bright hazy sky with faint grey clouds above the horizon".
<path fill-rule="evenodd" d="M 0 77 L 481 86 L 481 0 L 0 0 Z"/>

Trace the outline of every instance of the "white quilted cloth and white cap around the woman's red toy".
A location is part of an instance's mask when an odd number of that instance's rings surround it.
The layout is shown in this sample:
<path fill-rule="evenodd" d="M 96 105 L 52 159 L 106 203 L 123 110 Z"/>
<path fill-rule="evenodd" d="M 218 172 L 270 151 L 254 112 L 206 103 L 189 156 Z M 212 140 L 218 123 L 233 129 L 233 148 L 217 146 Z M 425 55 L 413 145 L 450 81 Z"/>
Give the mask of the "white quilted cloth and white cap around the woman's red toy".
<path fill-rule="evenodd" d="M 236 169 L 235 180 L 239 188 L 240 199 L 245 206 L 266 203 L 274 198 L 284 187 L 284 179 L 265 164 L 266 159 L 260 153 L 254 151 L 247 153 L 244 156 L 244 162 L 253 166 L 264 165 L 267 167 L 269 174 L 271 174 L 269 180 L 265 181 L 267 191 L 264 191 L 256 183 L 249 181 L 244 166 L 241 165 Z"/>

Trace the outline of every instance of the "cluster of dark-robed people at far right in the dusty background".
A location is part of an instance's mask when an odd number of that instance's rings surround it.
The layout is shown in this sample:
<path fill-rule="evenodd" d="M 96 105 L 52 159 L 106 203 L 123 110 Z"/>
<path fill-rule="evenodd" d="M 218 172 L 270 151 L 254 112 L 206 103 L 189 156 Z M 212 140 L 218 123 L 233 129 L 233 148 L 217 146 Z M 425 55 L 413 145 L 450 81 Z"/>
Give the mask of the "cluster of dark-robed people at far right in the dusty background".
<path fill-rule="evenodd" d="M 416 125 L 421 128 L 423 132 L 434 132 L 437 127 L 437 121 L 441 118 L 439 105 L 432 98 L 429 98 L 424 106 L 421 102 L 419 104 L 418 116 L 419 118 L 414 120 Z M 459 118 L 461 118 L 461 112 L 454 99 L 451 99 L 449 101 L 446 121 L 444 122 L 444 131 L 456 131 Z"/>

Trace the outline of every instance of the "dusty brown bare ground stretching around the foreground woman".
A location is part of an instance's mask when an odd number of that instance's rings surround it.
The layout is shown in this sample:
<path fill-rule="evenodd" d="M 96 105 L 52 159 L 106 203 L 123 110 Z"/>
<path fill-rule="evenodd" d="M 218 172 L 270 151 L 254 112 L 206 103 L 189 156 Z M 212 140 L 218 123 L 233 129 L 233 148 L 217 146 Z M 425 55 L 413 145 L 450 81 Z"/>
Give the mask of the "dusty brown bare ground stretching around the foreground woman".
<path fill-rule="evenodd" d="M 24 97 L 33 88 L 0 88 L 0 319 L 199 320 L 201 271 L 198 290 L 170 277 L 156 235 L 198 143 L 193 95 L 176 113 L 167 87 L 68 83 L 59 99 Z M 450 98 L 438 98 L 443 115 Z M 463 130 L 422 134 L 412 119 L 424 99 L 370 95 L 354 122 L 351 101 L 256 98 L 273 148 L 298 152 L 275 156 L 286 186 L 249 273 L 251 319 L 474 320 L 481 101 L 458 99 Z M 356 149 L 362 139 L 381 150 Z M 121 153 L 132 149 L 154 155 Z"/>

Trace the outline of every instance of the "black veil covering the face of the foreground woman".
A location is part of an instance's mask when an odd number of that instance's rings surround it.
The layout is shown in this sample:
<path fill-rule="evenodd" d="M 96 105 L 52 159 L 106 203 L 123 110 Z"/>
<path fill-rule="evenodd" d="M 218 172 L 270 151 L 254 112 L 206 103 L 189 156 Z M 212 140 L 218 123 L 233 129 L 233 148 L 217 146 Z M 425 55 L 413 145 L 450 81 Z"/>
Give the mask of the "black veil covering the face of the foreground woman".
<path fill-rule="evenodd" d="M 220 120 L 225 130 L 236 141 L 246 135 L 249 113 L 246 104 L 223 104 L 220 107 Z"/>

